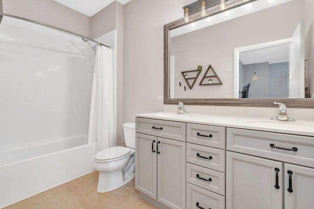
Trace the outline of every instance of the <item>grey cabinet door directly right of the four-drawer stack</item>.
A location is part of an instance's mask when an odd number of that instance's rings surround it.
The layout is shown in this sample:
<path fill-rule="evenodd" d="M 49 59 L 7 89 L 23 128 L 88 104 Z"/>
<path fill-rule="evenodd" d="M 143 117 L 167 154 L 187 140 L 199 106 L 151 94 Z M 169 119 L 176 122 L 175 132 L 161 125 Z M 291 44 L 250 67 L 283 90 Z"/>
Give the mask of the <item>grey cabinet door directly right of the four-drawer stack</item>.
<path fill-rule="evenodd" d="M 227 209 L 283 208 L 283 163 L 228 151 L 226 159 Z"/>

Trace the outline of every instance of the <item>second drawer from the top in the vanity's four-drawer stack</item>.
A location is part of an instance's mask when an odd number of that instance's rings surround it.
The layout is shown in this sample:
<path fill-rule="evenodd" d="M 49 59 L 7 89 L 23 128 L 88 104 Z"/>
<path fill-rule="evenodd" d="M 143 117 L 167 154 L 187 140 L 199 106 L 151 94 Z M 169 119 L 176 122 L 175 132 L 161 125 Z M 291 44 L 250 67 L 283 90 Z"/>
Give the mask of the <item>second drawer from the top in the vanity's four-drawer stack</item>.
<path fill-rule="evenodd" d="M 225 150 L 186 143 L 186 162 L 225 172 Z"/>

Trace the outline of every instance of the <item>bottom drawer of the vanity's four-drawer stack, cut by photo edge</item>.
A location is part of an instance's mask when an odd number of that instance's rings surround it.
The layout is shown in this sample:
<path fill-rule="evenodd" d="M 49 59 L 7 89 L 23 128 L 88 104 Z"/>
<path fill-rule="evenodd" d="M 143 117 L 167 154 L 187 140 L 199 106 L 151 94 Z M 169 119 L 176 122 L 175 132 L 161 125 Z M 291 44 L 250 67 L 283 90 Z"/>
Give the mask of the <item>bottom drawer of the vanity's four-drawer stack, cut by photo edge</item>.
<path fill-rule="evenodd" d="M 200 209 L 200 207 L 204 209 L 225 209 L 225 197 L 186 183 L 186 208 Z"/>

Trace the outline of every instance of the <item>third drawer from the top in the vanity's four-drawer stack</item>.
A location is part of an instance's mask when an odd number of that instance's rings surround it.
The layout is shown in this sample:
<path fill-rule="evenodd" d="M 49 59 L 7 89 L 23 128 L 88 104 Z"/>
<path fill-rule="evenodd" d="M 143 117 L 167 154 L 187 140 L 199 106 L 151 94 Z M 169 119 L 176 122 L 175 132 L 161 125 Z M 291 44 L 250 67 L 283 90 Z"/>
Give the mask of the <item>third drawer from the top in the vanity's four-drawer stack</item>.
<path fill-rule="evenodd" d="M 225 174 L 209 168 L 186 163 L 186 181 L 225 195 Z"/>

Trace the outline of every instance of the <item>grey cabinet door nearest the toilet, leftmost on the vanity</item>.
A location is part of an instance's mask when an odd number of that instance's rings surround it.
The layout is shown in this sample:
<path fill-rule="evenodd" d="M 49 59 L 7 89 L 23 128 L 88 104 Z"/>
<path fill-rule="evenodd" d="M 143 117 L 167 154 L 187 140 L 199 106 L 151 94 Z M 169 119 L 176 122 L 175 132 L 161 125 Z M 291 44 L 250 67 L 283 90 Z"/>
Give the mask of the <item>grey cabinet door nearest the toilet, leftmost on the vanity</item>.
<path fill-rule="evenodd" d="M 157 137 L 136 133 L 135 188 L 155 199 L 157 199 L 156 146 Z"/>

